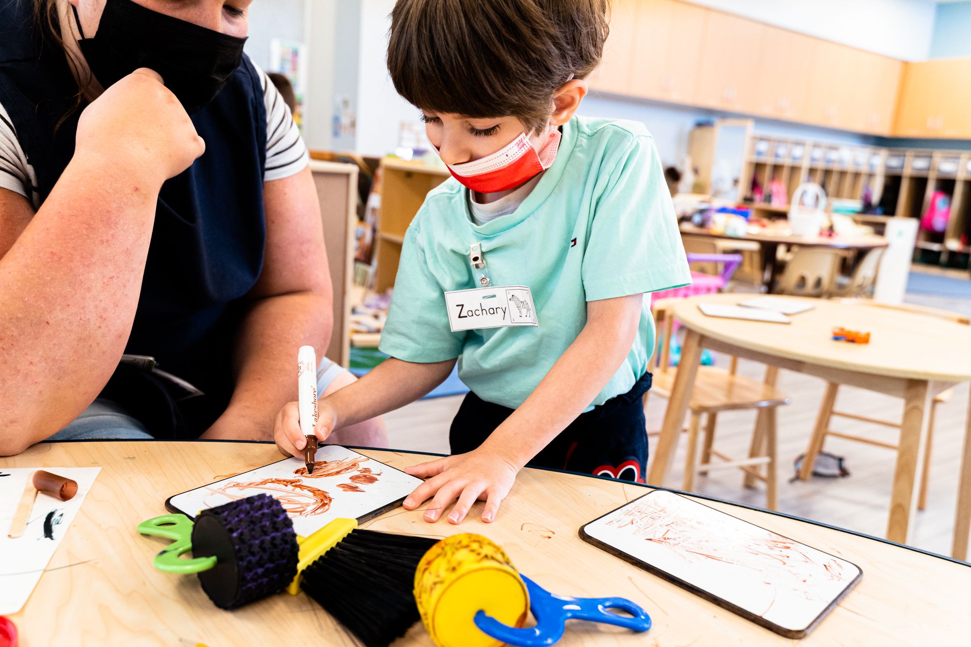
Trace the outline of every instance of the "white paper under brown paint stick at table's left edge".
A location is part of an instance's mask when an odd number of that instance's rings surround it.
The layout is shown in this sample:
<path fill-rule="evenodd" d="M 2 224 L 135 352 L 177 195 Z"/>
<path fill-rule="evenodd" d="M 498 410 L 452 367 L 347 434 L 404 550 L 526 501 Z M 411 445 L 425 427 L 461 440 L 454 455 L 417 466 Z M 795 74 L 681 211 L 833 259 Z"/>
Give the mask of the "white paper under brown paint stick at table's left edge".
<path fill-rule="evenodd" d="M 37 493 L 27 518 L 27 528 L 17 539 L 7 536 L 17 504 L 38 469 L 78 482 L 78 494 L 69 501 Z M 17 613 L 60 545 L 61 539 L 94 485 L 100 467 L 17 467 L 0 469 L 0 615 Z"/>

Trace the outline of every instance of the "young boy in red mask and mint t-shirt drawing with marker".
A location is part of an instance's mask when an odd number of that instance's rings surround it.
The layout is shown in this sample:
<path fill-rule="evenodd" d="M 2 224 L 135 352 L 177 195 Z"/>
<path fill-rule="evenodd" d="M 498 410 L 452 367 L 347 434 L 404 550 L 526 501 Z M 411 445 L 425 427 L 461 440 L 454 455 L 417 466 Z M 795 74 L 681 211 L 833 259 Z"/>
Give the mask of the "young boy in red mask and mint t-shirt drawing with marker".
<path fill-rule="evenodd" d="M 495 519 L 527 463 L 643 480 L 641 395 L 655 344 L 645 292 L 690 283 L 643 125 L 576 117 L 607 37 L 607 0 L 398 0 L 387 66 L 454 180 L 405 236 L 381 339 L 391 356 L 319 402 L 318 437 L 412 402 L 458 360 L 471 392 L 424 519 L 477 499 Z M 295 403 L 277 417 L 299 455 Z"/>

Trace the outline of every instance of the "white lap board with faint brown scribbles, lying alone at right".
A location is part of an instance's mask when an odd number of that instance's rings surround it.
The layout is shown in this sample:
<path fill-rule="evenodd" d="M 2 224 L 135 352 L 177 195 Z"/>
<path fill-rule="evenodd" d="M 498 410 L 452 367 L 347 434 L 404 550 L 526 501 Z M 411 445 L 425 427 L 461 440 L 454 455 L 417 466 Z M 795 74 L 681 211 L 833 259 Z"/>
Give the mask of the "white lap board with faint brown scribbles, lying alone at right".
<path fill-rule="evenodd" d="M 660 490 L 590 522 L 581 535 L 793 638 L 811 630 L 862 575 L 854 563 Z"/>

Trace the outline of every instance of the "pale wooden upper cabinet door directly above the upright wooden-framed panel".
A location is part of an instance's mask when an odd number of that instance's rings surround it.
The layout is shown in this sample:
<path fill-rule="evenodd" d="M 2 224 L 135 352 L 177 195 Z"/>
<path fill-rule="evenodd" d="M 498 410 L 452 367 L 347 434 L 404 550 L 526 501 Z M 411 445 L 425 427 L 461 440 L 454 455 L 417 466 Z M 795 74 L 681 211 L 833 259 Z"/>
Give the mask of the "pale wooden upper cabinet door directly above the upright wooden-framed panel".
<path fill-rule="evenodd" d="M 761 22 L 709 12 L 694 86 L 698 105 L 734 113 L 755 112 L 756 77 L 766 29 Z"/>

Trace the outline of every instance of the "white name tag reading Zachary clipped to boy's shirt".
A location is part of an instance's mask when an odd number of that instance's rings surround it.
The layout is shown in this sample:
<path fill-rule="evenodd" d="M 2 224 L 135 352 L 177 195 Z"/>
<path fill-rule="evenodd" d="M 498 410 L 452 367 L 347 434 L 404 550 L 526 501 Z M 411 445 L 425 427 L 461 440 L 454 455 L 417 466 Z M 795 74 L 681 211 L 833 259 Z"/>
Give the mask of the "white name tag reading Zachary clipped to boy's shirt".
<path fill-rule="evenodd" d="M 452 332 L 507 325 L 539 325 L 533 294 L 525 286 L 456 289 L 445 293 Z"/>

